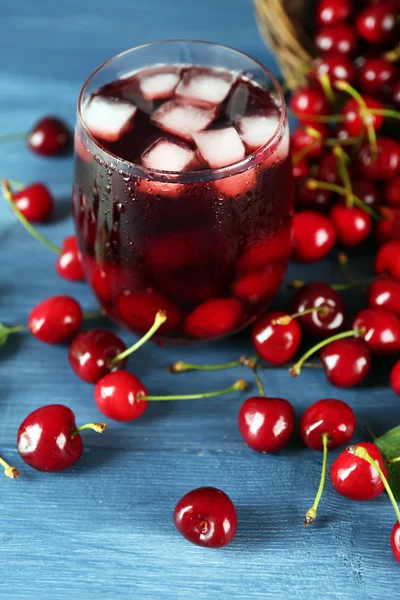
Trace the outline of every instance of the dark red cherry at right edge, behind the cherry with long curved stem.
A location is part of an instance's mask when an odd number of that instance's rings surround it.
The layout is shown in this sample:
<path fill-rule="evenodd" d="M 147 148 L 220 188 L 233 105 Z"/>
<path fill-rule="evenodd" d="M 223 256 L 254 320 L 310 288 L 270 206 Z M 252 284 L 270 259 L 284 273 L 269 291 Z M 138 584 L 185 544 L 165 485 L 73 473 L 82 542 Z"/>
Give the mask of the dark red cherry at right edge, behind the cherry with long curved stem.
<path fill-rule="evenodd" d="M 352 328 L 365 329 L 361 337 L 372 354 L 391 356 L 400 352 L 400 319 L 393 313 L 365 308 L 356 315 Z"/>

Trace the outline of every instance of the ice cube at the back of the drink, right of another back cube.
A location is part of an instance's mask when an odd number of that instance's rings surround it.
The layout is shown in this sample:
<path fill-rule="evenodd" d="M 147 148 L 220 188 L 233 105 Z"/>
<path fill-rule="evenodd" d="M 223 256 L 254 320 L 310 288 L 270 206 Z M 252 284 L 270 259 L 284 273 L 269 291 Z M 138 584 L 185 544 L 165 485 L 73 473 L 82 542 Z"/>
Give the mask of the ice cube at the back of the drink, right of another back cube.
<path fill-rule="evenodd" d="M 221 104 L 236 78 L 237 75 L 229 71 L 193 67 L 182 77 L 176 95 L 193 104 Z"/>

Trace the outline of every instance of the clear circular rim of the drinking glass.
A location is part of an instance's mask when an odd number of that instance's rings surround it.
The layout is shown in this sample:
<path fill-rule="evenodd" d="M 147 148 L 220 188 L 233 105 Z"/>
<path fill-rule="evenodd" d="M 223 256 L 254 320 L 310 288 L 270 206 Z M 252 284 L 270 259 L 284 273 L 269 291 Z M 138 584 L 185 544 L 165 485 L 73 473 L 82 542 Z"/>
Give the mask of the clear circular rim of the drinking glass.
<path fill-rule="evenodd" d="M 184 171 L 184 172 L 182 172 L 182 171 L 162 171 L 161 169 L 151 169 L 149 167 L 143 167 L 142 165 L 138 165 L 137 163 L 134 163 L 130 160 L 121 158 L 117 154 L 113 154 L 107 148 L 105 148 L 91 134 L 91 132 L 89 131 L 89 129 L 87 128 L 87 126 L 85 124 L 81 109 L 83 106 L 83 95 L 84 95 L 90 81 L 96 76 L 96 74 L 99 73 L 106 65 L 108 65 L 115 59 L 118 59 L 126 54 L 129 54 L 130 52 L 135 51 L 135 50 L 142 50 L 144 48 L 150 48 L 152 46 L 157 46 L 157 45 L 162 45 L 162 44 L 177 44 L 177 43 L 178 44 L 179 43 L 191 43 L 191 44 L 201 44 L 204 46 L 218 46 L 219 48 L 223 48 L 225 50 L 229 50 L 231 52 L 234 52 L 236 54 L 240 54 L 240 55 L 246 57 L 247 59 L 249 59 L 253 63 L 255 63 L 258 67 L 260 67 L 262 69 L 262 71 L 268 75 L 268 77 L 271 79 L 271 81 L 274 85 L 275 91 L 278 92 L 281 106 L 280 106 L 280 116 L 279 116 L 279 121 L 278 121 L 277 127 L 276 127 L 274 133 L 272 134 L 272 136 L 265 142 L 265 144 L 263 144 L 262 146 L 257 148 L 257 150 L 254 150 L 247 156 L 245 156 L 240 161 L 237 161 L 237 162 L 227 165 L 225 167 L 219 167 L 216 169 L 209 167 L 207 169 L 191 170 L 191 171 Z M 266 153 L 266 151 L 269 148 L 271 148 L 271 146 L 274 145 L 274 143 L 277 141 L 277 139 L 279 137 L 279 132 L 281 131 L 282 126 L 285 125 L 286 119 L 287 119 L 286 102 L 285 102 L 285 96 L 284 96 L 282 87 L 279 84 L 278 80 L 276 79 L 275 75 L 273 75 L 271 73 L 271 71 L 265 65 L 263 65 L 260 61 L 253 58 L 252 56 L 249 56 L 245 52 L 242 52 L 241 50 L 237 50 L 236 48 L 232 48 L 231 46 L 228 46 L 226 44 L 219 44 L 218 42 L 211 42 L 211 41 L 206 41 L 206 40 L 193 40 L 193 39 L 184 39 L 184 38 L 177 38 L 177 39 L 172 39 L 172 40 L 158 40 L 155 42 L 147 42 L 145 44 L 140 44 L 139 46 L 132 46 L 131 48 L 122 50 L 121 52 L 114 54 L 107 60 L 103 61 L 94 71 L 92 71 L 92 73 L 90 73 L 90 75 L 86 78 L 85 82 L 82 85 L 82 88 L 81 88 L 81 90 L 79 92 L 79 96 L 78 96 L 77 114 L 78 114 L 79 125 L 82 128 L 82 130 L 84 131 L 87 138 L 90 140 L 90 142 L 96 148 L 98 148 L 103 154 L 107 155 L 113 162 L 116 162 L 117 166 L 119 168 L 121 167 L 121 165 L 125 165 L 125 168 L 122 168 L 122 170 L 126 170 L 128 172 L 134 171 L 134 174 L 137 175 L 138 177 L 142 177 L 144 179 L 150 179 L 150 180 L 154 180 L 154 181 L 165 181 L 165 179 L 168 178 L 169 176 L 173 176 L 174 178 L 179 176 L 180 182 L 185 182 L 185 181 L 192 182 L 192 181 L 205 180 L 205 179 L 222 179 L 223 177 L 227 177 L 232 174 L 236 175 L 238 173 L 241 173 L 241 172 L 247 170 L 253 164 L 257 164 L 259 162 L 259 159 L 262 160 L 263 155 Z M 283 135 L 284 135 L 284 132 L 282 133 L 282 136 Z M 147 177 L 146 177 L 146 175 L 147 175 Z M 175 179 L 173 179 L 173 181 L 174 180 Z"/>

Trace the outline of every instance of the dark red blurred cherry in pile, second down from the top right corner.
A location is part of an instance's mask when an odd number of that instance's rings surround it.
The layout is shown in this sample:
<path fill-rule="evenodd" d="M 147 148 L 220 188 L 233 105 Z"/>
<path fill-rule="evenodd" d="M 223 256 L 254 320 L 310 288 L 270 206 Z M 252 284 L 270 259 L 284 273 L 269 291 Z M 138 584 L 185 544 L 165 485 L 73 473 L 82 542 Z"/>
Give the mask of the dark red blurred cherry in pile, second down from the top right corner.
<path fill-rule="evenodd" d="M 390 97 L 391 84 L 397 76 L 394 64 L 380 57 L 368 58 L 358 71 L 361 92 L 380 97 Z"/>

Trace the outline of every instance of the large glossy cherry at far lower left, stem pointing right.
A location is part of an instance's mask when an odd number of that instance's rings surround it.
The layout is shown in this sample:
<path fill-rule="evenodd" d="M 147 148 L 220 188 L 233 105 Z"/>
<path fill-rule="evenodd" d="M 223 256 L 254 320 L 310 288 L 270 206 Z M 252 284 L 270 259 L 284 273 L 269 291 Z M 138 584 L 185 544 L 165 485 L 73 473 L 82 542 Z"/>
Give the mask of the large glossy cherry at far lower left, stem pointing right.
<path fill-rule="evenodd" d="M 75 415 L 61 404 L 34 410 L 21 423 L 17 449 L 23 461 L 38 471 L 62 471 L 78 462 L 83 452 Z"/>

